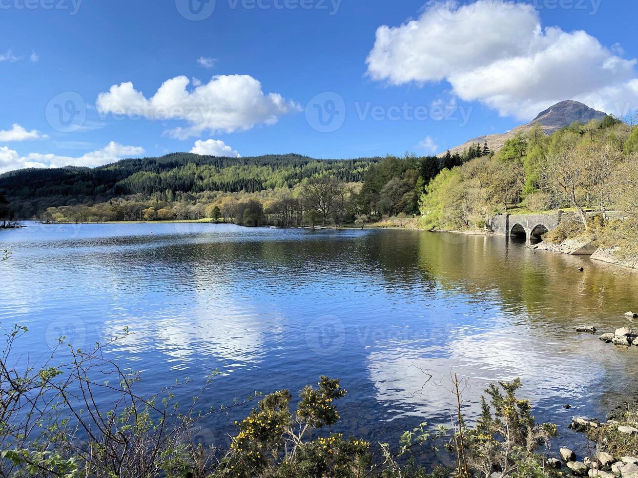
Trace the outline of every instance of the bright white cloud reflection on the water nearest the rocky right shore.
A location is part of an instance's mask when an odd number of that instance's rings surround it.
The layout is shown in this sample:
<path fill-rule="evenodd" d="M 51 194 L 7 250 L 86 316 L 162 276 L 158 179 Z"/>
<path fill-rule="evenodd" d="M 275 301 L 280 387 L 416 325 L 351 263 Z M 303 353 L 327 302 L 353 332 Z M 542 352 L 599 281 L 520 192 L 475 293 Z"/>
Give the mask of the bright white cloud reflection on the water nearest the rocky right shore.
<path fill-rule="evenodd" d="M 595 343 L 600 341 L 591 336 L 584 340 L 593 341 L 594 347 L 577 340 L 558 342 L 525 326 L 502 324 L 499 330 L 470 336 L 458 330 L 444 344 L 379 344 L 369 354 L 367 368 L 377 400 L 396 403 L 396 417 L 449 415 L 455 403 L 450 393 L 454 373 L 466 380 L 463 396 L 468 416 L 479 414 L 479 397 L 489 382 L 516 377 L 524 383 L 520 395 L 542 410 L 542 400 L 552 399 L 554 407 L 561 401 L 582 402 L 595 393 L 593 385 L 604 379 Z M 433 375 L 427 384 L 426 373 Z"/>

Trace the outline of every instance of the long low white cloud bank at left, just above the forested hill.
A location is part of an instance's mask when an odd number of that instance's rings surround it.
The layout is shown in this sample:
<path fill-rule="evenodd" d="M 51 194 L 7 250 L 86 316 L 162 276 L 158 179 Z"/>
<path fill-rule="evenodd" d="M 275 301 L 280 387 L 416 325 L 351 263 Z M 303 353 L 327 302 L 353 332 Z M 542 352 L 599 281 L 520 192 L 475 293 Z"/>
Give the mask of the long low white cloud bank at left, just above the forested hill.
<path fill-rule="evenodd" d="M 115 163 L 124 157 L 140 156 L 144 148 L 124 146 L 111 141 L 100 150 L 92 151 L 80 157 L 57 156 L 55 154 L 30 153 L 20 156 L 17 151 L 6 146 L 0 147 L 0 173 L 22 168 L 61 168 L 63 166 L 101 166 Z"/>

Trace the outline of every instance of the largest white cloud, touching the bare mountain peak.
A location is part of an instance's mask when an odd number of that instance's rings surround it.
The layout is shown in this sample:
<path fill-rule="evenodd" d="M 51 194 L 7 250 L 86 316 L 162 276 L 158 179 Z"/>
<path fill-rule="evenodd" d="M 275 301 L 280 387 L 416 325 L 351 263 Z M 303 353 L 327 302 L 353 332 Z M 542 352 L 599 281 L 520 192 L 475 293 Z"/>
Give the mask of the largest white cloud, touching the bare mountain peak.
<path fill-rule="evenodd" d="M 436 1 L 416 20 L 379 27 L 367 66 L 392 85 L 447 80 L 459 98 L 521 119 L 578 96 L 622 115 L 638 102 L 638 75 L 619 52 L 584 31 L 543 28 L 531 4 Z"/>

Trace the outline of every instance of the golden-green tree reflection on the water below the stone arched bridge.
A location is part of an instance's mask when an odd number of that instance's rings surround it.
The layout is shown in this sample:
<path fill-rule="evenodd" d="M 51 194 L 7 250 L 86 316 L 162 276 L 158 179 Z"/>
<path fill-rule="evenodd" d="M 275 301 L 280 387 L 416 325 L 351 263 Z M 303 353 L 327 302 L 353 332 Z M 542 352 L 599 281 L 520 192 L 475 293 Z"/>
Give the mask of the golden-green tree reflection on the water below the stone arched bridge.
<path fill-rule="evenodd" d="M 420 237 L 419 264 L 448 291 L 484 296 L 496 291 L 507 310 L 530 319 L 593 320 L 615 326 L 638 301 L 638 275 L 553 252 L 533 254 L 504 238 L 468 236 L 449 243 L 438 234 Z M 578 268 L 584 266 L 585 272 Z M 602 322 L 601 322 L 602 321 Z"/>

